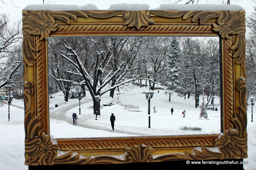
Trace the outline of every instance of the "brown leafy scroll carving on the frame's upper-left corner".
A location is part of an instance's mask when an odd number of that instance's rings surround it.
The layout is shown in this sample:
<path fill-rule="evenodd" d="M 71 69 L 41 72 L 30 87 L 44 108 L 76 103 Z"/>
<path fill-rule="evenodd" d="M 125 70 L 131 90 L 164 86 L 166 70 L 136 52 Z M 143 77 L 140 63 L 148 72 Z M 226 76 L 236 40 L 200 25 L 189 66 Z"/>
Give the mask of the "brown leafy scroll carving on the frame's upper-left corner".
<path fill-rule="evenodd" d="M 28 66 L 33 66 L 31 59 L 37 59 L 33 51 L 38 51 L 32 40 L 32 35 L 41 35 L 40 40 L 47 39 L 51 31 L 57 30 L 54 19 L 70 23 L 70 19 L 77 20 L 77 16 L 88 18 L 82 11 L 23 11 L 23 61 Z"/>

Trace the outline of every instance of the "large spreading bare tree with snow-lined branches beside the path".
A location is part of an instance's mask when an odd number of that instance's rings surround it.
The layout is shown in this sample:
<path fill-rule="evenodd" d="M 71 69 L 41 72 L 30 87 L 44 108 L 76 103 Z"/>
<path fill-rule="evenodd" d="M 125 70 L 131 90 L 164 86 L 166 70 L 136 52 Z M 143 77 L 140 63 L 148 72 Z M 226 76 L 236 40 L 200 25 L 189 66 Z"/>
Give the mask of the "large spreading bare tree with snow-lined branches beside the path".
<path fill-rule="evenodd" d="M 51 41 L 50 75 L 61 88 L 67 87 L 69 83 L 73 86 L 86 86 L 94 101 L 96 114 L 96 105 L 99 103 L 96 103 L 94 96 L 101 96 L 140 77 L 134 74 L 134 70 L 139 69 L 136 63 L 140 61 L 136 52 L 126 53 L 124 50 L 124 47 L 131 48 L 127 44 L 134 41 L 132 39 L 134 38 L 72 37 Z"/>

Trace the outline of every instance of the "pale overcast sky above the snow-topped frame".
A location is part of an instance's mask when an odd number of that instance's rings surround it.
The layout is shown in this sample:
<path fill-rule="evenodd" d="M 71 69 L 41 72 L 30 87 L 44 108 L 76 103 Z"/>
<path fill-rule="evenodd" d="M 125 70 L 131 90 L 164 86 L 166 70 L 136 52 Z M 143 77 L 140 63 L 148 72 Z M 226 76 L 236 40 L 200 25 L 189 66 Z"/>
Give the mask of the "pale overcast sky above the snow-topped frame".
<path fill-rule="evenodd" d="M 9 0 L 4 0 L 9 2 Z M 19 19 L 22 19 L 22 9 L 25 8 L 27 5 L 33 4 L 42 4 L 43 0 L 13 0 L 16 1 L 15 5 L 19 8 L 15 8 L 13 5 L 3 5 L 0 4 L 2 9 L 0 12 L 4 12 L 6 14 L 10 14 L 10 21 L 14 22 Z M 128 4 L 148 4 L 151 9 L 159 7 L 160 4 L 164 4 L 164 2 L 159 2 L 161 0 L 97 0 L 97 1 L 86 1 L 86 0 L 52 0 L 56 1 L 54 4 L 66 4 L 66 5 L 86 5 L 86 4 L 94 4 L 99 9 L 104 10 L 108 9 L 111 4 L 120 4 L 120 3 L 128 3 Z M 213 0 L 214 1 L 214 0 Z M 71 3 L 72 2 L 72 3 Z M 204 0 L 201 0 L 204 2 Z M 201 3 L 202 4 L 202 3 Z M 249 14 L 252 10 L 252 7 L 256 4 L 252 3 L 251 0 L 240 0 L 240 1 L 233 1 L 233 4 L 240 5 L 243 7 L 247 14 Z"/>

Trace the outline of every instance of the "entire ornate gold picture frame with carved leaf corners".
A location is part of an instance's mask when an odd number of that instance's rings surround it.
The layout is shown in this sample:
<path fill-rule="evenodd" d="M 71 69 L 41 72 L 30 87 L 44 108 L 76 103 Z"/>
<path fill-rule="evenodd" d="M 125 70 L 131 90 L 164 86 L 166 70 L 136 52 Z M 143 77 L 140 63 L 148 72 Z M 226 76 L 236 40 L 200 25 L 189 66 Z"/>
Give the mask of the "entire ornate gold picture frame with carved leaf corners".
<path fill-rule="evenodd" d="M 23 35 L 26 165 L 247 158 L 245 11 L 23 10 Z M 53 139 L 49 36 L 220 36 L 223 133 Z"/>

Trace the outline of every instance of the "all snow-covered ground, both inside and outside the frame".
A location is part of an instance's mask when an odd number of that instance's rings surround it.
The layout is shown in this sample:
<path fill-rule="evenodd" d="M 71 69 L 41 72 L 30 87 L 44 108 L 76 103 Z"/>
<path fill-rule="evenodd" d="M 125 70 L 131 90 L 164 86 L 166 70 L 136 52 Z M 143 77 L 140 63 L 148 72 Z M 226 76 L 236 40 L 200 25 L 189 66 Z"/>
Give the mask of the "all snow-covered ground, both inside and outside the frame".
<path fill-rule="evenodd" d="M 219 106 L 218 111 L 207 110 L 210 120 L 198 120 L 200 107 L 196 109 L 194 107 L 193 99 L 184 99 L 177 95 L 172 95 L 171 102 L 168 101 L 168 95 L 164 94 L 163 90 L 155 90 L 154 97 L 151 99 L 151 128 L 148 128 L 148 114 L 147 114 L 147 100 L 145 94 L 146 88 L 138 88 L 137 90 L 125 91 L 122 90 L 119 94 L 115 95 L 114 99 L 107 97 L 101 97 L 101 103 L 112 102 L 114 105 L 103 107 L 101 109 L 101 116 L 95 121 L 95 115 L 93 110 L 88 107 L 92 106 L 90 101 L 90 95 L 82 98 L 81 103 L 81 115 L 78 114 L 78 126 L 71 125 L 63 120 L 50 119 L 51 135 L 56 138 L 67 137 L 118 137 L 118 136 L 135 136 L 136 133 L 152 134 L 152 135 L 175 135 L 175 134 L 199 134 L 199 133 L 219 133 L 220 118 Z M 59 96 L 50 100 L 50 105 L 61 103 L 64 101 L 64 96 Z M 119 99 L 117 99 L 119 98 Z M 139 106 L 141 112 L 132 112 L 124 110 L 123 104 L 133 104 Z M 182 101 L 182 103 L 180 102 Z M 116 103 L 117 102 L 117 103 Z M 200 99 L 200 105 L 201 105 Z M 217 104 L 219 101 L 215 99 Z M 68 106 L 71 109 L 67 110 L 63 115 L 72 121 L 72 113 L 79 113 L 76 106 L 78 99 L 69 99 L 67 104 L 59 106 L 58 108 L 51 109 L 50 115 L 61 111 Z M 13 99 L 12 105 L 18 105 L 24 107 L 23 101 Z M 76 106 L 73 107 L 72 106 Z M 156 113 L 153 113 L 153 107 L 156 106 Z M 174 108 L 173 115 L 170 114 L 170 108 Z M 181 112 L 186 110 L 185 118 L 182 117 Z M 256 109 L 256 108 L 254 108 Z M 10 106 L 10 121 L 8 121 L 8 105 L 0 107 L 0 164 L 1 169 L 28 169 L 24 165 L 24 110 Z M 114 113 L 116 116 L 115 130 L 111 130 L 110 115 Z M 53 115 L 52 115 L 53 116 Z M 211 122 L 211 123 L 209 123 Z M 251 122 L 251 107 L 248 108 L 248 158 L 244 161 L 249 161 L 249 165 L 244 165 L 244 169 L 252 170 L 256 167 L 256 118 L 254 122 Z M 101 129 L 92 129 L 81 127 L 82 125 L 97 126 Z M 198 126 L 202 128 L 202 131 L 182 131 L 180 126 Z M 65 136 L 62 136 L 63 130 Z M 127 133 L 119 133 L 127 131 Z M 132 133 L 129 133 L 132 132 Z M 135 134 L 134 134 L 135 133 Z M 12 166 L 10 166 L 12 165 Z"/>

